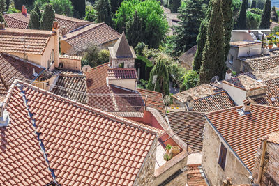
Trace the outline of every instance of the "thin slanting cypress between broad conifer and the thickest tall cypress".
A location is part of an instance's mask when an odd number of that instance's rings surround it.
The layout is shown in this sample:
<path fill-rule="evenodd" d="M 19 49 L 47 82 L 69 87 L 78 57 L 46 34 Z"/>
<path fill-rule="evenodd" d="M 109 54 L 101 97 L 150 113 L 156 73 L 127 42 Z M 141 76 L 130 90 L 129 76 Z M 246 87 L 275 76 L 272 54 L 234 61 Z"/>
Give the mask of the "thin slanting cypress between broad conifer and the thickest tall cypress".
<path fill-rule="evenodd" d="M 206 10 L 206 17 L 202 20 L 199 26 L 199 35 L 197 35 L 197 52 L 193 61 L 193 70 L 199 72 L 199 68 L 202 65 L 202 51 L 204 50 L 204 45 L 207 38 L 207 24 L 210 20 L 212 10 L 212 3 L 209 1 L 209 6 Z"/>

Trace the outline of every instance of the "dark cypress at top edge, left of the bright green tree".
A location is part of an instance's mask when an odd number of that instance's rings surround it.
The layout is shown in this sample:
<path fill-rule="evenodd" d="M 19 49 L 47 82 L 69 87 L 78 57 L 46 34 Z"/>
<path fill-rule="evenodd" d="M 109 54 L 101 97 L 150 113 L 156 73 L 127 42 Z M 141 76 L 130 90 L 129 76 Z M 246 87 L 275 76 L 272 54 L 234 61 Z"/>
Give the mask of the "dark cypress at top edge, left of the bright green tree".
<path fill-rule="evenodd" d="M 110 0 L 98 0 L 96 2 L 97 22 L 105 22 L 112 25 L 112 12 Z"/>

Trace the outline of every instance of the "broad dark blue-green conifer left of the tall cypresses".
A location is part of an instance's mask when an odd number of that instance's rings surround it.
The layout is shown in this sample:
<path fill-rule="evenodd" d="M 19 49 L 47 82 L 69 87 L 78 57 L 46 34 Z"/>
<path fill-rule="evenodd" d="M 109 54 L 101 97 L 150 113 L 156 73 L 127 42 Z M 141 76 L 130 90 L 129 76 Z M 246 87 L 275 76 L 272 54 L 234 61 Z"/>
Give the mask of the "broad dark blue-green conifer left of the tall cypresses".
<path fill-rule="evenodd" d="M 179 9 L 180 25 L 176 28 L 176 48 L 177 54 L 186 52 L 188 49 L 197 45 L 197 35 L 199 26 L 204 17 L 202 1 L 187 0 L 187 6 Z"/>

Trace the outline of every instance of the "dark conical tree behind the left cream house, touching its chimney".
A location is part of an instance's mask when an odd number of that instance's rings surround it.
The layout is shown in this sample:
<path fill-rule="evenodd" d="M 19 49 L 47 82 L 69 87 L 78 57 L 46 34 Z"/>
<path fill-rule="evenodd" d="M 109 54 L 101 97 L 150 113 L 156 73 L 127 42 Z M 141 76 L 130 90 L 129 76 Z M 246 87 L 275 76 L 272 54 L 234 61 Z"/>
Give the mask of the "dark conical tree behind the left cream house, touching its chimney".
<path fill-rule="evenodd" d="M 52 23 L 55 21 L 55 13 L 52 5 L 47 4 L 45 6 L 45 11 L 42 15 L 42 20 L 40 20 L 40 30 L 51 31 Z"/>

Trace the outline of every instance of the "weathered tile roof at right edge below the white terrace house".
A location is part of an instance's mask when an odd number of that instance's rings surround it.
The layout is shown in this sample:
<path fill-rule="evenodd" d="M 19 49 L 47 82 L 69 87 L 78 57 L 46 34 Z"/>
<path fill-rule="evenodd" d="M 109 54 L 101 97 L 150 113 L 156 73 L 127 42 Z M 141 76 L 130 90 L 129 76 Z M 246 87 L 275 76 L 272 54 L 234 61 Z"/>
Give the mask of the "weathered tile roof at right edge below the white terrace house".
<path fill-rule="evenodd" d="M 279 65 L 279 56 L 263 56 L 243 61 L 250 65 L 252 71 L 266 71 Z"/>

